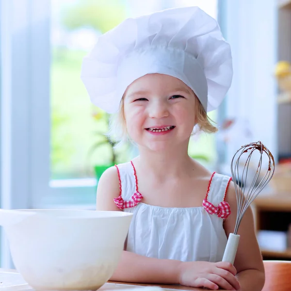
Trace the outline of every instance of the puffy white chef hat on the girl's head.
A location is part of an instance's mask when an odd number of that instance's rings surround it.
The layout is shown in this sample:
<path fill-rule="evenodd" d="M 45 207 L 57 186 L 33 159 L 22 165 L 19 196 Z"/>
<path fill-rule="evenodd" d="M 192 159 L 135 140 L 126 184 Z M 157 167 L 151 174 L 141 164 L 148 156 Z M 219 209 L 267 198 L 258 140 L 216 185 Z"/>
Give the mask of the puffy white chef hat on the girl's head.
<path fill-rule="evenodd" d="M 83 59 L 81 79 L 93 104 L 118 111 L 126 88 L 150 73 L 188 85 L 206 112 L 216 109 L 232 80 L 232 58 L 215 19 L 198 7 L 128 18 L 100 35 Z"/>

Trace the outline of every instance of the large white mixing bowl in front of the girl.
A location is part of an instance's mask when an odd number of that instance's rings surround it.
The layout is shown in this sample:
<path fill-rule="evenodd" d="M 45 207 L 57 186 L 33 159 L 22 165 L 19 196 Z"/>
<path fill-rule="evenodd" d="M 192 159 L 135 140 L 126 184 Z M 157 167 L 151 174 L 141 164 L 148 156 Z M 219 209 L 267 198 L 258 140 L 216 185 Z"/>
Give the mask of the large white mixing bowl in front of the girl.
<path fill-rule="evenodd" d="M 122 254 L 132 214 L 0 210 L 17 271 L 37 291 L 97 290 Z"/>

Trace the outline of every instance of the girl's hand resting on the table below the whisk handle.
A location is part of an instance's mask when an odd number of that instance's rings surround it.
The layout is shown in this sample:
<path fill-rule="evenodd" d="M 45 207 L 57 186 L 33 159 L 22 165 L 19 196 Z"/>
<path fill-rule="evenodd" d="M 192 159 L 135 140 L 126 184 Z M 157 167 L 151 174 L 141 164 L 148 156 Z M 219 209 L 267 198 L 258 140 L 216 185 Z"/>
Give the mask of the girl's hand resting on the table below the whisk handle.
<path fill-rule="evenodd" d="M 179 282 L 181 285 L 211 290 L 236 290 L 241 286 L 235 267 L 228 262 L 210 263 L 204 261 L 181 262 L 179 265 Z"/>

